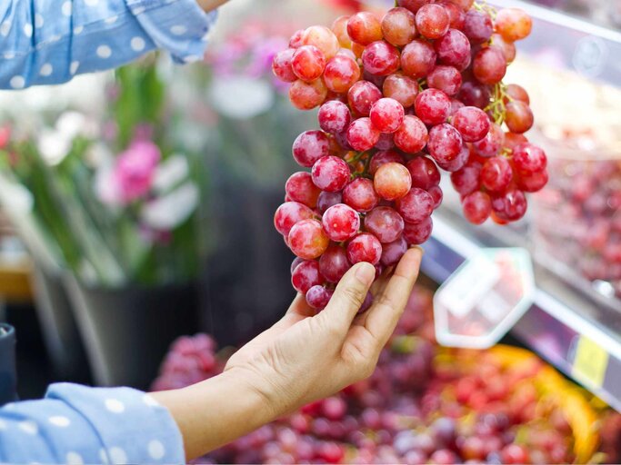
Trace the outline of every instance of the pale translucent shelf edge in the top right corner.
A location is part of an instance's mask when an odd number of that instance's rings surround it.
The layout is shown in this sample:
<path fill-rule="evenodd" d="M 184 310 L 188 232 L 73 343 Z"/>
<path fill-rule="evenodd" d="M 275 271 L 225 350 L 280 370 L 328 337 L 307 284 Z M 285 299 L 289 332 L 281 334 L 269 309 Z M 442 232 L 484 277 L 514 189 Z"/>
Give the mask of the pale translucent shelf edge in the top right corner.
<path fill-rule="evenodd" d="M 519 42 L 542 64 L 576 71 L 590 79 L 621 85 L 621 33 L 522 0 L 490 0 L 496 7 L 516 7 L 533 17 L 533 31 Z"/>

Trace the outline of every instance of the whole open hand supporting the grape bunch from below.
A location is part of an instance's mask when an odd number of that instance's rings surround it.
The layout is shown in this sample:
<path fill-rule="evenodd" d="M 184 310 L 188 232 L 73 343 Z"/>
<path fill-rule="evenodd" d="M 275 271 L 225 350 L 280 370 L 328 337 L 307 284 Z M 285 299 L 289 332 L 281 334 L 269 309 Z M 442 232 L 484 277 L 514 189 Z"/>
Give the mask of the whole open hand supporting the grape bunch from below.
<path fill-rule="evenodd" d="M 252 386 L 273 418 L 365 379 L 404 311 L 421 258 L 421 249 L 408 250 L 375 283 L 375 302 L 360 315 L 376 273 L 369 263 L 346 272 L 323 312 L 315 315 L 298 295 L 282 320 L 235 352 L 225 372 Z"/>

